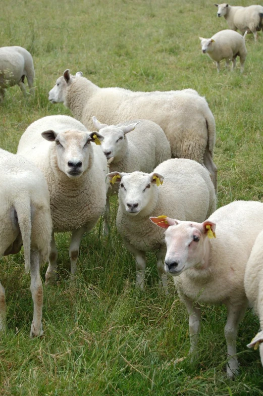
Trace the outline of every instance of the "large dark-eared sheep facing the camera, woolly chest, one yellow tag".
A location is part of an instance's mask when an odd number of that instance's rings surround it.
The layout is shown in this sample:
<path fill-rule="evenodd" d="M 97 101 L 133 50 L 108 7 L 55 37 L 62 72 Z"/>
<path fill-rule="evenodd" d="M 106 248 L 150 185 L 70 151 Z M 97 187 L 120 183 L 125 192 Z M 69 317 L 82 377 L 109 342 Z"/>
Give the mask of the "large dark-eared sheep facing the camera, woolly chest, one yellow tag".
<path fill-rule="evenodd" d="M 45 284 L 56 278 L 54 232 L 72 231 L 69 256 L 74 278 L 81 238 L 106 205 L 107 159 L 101 147 L 90 144 L 102 139 L 74 118 L 58 115 L 33 122 L 19 141 L 18 153 L 43 172 L 50 193 L 53 232 Z"/>

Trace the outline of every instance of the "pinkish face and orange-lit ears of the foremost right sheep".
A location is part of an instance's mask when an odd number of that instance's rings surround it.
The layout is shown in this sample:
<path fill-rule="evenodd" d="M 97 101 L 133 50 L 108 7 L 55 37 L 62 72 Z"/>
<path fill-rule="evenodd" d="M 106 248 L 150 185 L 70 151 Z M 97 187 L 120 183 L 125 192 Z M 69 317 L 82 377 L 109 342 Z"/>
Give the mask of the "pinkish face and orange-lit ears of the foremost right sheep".
<path fill-rule="evenodd" d="M 200 224 L 165 216 L 150 217 L 150 220 L 166 229 L 166 272 L 172 276 L 178 276 L 191 267 L 206 268 L 209 251 L 207 235 L 214 237 L 215 223 L 205 221 Z"/>

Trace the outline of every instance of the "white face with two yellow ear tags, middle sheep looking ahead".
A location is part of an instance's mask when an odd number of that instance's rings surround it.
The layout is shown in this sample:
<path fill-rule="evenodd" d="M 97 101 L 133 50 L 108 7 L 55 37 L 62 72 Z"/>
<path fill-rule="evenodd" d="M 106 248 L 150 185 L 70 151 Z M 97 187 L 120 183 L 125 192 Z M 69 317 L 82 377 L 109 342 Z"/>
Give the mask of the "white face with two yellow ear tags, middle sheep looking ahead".
<path fill-rule="evenodd" d="M 119 173 L 107 175 L 114 182 L 120 183 L 119 202 L 130 216 L 136 216 L 156 201 L 156 184 L 163 183 L 164 177 L 156 172 Z"/>

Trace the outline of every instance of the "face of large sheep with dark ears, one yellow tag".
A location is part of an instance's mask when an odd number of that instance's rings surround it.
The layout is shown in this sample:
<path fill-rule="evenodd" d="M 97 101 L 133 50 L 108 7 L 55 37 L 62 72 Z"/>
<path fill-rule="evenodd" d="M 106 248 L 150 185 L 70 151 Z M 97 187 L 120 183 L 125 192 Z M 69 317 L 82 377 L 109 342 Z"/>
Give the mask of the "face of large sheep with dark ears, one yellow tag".
<path fill-rule="evenodd" d="M 48 130 L 42 132 L 44 139 L 54 141 L 59 169 L 70 179 L 78 179 L 85 172 L 92 160 L 91 142 L 102 140 L 97 132 L 66 131 L 56 133 Z"/>

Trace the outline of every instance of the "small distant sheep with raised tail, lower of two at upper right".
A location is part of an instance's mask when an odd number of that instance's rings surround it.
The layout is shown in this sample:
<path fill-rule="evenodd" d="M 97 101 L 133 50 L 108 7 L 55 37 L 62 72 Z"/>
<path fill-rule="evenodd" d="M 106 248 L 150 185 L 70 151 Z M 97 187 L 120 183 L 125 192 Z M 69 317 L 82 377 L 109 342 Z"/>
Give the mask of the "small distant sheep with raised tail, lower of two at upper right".
<path fill-rule="evenodd" d="M 246 35 L 246 32 L 245 32 Z M 236 58 L 240 58 L 240 72 L 244 71 L 244 63 L 247 56 L 245 45 L 245 35 L 235 32 L 234 30 L 221 30 L 211 38 L 199 37 L 201 40 L 202 53 L 216 62 L 218 73 L 220 72 L 220 61 L 226 60 L 226 66 L 229 67 L 232 61 L 232 71 L 236 66 Z"/>

